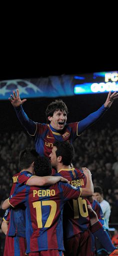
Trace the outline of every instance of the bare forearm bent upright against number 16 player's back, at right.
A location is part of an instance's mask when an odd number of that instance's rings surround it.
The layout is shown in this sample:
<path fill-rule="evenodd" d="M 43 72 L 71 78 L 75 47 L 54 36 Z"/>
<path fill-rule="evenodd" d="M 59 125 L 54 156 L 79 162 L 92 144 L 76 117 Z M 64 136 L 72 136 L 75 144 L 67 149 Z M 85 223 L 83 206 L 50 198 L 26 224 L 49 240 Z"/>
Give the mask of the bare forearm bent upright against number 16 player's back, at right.
<path fill-rule="evenodd" d="M 91 179 L 91 172 L 86 168 L 82 168 L 84 175 L 86 176 L 86 186 L 85 188 L 82 188 L 81 196 L 92 196 L 94 189 L 93 189 L 93 183 Z"/>

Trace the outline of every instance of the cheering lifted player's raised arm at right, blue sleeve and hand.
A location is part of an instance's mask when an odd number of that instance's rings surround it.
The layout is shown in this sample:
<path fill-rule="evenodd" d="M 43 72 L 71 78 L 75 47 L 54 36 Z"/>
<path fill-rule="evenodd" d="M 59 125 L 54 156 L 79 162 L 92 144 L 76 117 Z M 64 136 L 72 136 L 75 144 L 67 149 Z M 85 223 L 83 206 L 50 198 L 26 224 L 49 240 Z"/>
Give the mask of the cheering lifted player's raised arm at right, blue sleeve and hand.
<path fill-rule="evenodd" d="M 117 98 L 118 93 L 114 92 L 111 94 L 111 92 L 109 92 L 105 103 L 97 111 L 91 113 L 78 123 L 77 135 L 80 135 L 81 132 L 83 132 L 86 128 L 99 120 L 107 111 L 107 109 L 111 106 L 112 102 Z"/>

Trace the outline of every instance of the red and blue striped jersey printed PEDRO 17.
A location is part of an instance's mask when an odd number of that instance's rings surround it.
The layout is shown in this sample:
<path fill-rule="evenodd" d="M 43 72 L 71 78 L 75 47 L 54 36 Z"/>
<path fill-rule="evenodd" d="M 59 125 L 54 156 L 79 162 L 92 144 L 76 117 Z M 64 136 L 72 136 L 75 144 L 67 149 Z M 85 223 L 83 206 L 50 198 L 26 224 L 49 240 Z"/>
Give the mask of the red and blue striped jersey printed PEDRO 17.
<path fill-rule="evenodd" d="M 81 188 L 58 182 L 52 186 L 22 186 L 9 203 L 26 206 L 27 250 L 63 250 L 62 211 L 64 203 L 80 196 Z"/>

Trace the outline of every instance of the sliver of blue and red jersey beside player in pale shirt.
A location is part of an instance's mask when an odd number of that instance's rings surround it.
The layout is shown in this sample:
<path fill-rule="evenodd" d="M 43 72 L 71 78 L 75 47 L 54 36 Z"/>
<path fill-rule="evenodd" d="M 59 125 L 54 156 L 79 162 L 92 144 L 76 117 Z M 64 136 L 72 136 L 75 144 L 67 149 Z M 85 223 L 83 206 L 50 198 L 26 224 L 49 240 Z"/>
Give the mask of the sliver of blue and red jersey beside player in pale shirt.
<path fill-rule="evenodd" d="M 104 216 L 103 216 L 103 212 L 101 210 L 100 204 L 96 200 L 93 200 L 91 206 L 92 206 L 92 209 L 96 212 L 98 220 L 103 225 L 104 224 Z"/>

